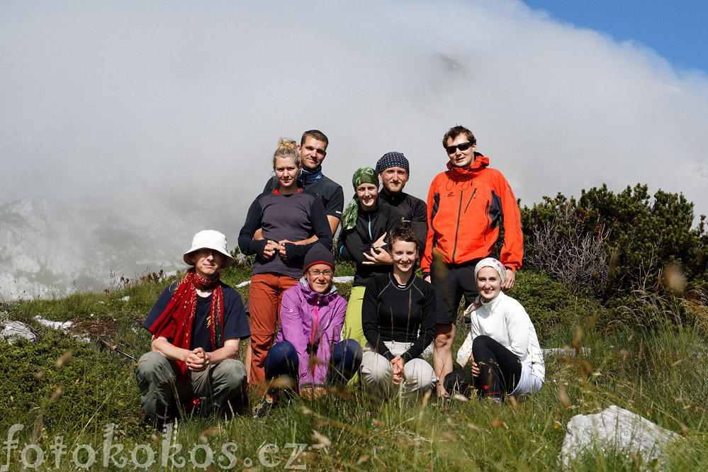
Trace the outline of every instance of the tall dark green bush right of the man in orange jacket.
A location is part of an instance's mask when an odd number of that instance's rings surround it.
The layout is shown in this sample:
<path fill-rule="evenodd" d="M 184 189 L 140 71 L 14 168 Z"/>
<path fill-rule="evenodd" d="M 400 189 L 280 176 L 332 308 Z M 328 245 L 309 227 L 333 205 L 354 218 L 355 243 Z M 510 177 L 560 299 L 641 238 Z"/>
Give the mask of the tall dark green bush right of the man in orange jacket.
<path fill-rule="evenodd" d="M 525 262 L 550 271 L 574 291 L 590 289 L 623 305 L 634 291 L 681 291 L 681 279 L 708 277 L 705 216 L 693 227 L 693 203 L 646 185 L 613 193 L 606 185 L 570 199 L 561 193 L 522 209 Z M 679 277 L 665 277 L 676 266 Z"/>

